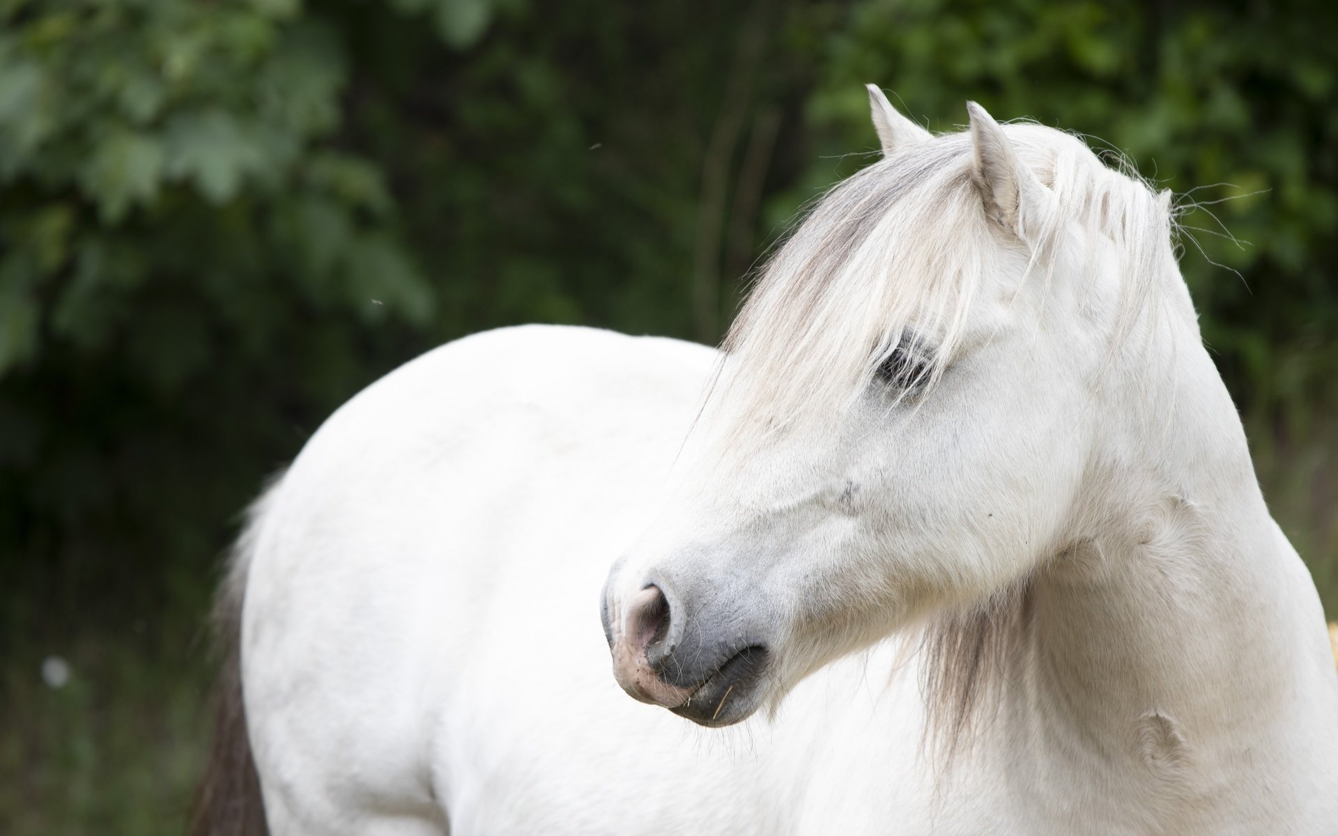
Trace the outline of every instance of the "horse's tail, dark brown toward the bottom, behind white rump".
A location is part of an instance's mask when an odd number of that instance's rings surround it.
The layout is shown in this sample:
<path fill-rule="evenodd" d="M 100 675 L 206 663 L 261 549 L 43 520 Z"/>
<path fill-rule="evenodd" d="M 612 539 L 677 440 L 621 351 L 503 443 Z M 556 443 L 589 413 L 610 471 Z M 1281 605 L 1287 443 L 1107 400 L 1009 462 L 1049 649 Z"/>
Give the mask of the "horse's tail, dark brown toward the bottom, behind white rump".
<path fill-rule="evenodd" d="M 277 482 L 252 506 L 246 527 L 233 547 L 227 574 L 214 598 L 211 621 L 222 666 L 214 686 L 214 741 L 195 788 L 191 836 L 269 835 L 242 702 L 241 626 L 246 577 L 260 539 L 261 519 L 270 496 L 277 492 Z"/>

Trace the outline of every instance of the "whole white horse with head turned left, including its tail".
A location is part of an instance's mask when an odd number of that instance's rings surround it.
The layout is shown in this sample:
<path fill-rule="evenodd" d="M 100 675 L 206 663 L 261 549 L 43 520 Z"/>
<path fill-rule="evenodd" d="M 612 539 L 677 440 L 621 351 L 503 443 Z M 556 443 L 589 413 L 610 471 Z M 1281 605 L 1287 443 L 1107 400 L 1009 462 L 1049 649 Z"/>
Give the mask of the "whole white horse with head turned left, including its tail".
<path fill-rule="evenodd" d="M 723 353 L 498 330 L 326 421 L 234 562 L 202 827 L 1338 832 L 1323 615 L 1168 197 L 871 95 L 884 158 Z"/>

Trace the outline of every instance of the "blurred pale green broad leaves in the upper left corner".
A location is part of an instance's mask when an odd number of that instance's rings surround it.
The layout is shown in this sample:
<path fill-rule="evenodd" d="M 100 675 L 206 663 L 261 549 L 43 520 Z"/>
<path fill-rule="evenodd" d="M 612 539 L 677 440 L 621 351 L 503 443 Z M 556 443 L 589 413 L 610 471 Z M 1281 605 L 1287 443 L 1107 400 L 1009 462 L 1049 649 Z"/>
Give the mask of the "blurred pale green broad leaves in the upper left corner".
<path fill-rule="evenodd" d="M 8 19 L 0 274 L 25 313 L 7 317 L 0 372 L 59 341 L 106 348 L 131 300 L 171 282 L 207 305 L 183 334 L 252 326 L 234 294 L 274 281 L 363 316 L 384 285 L 376 316 L 429 314 L 379 169 L 333 142 L 348 66 L 329 24 L 288 3 L 27 3 Z"/>

